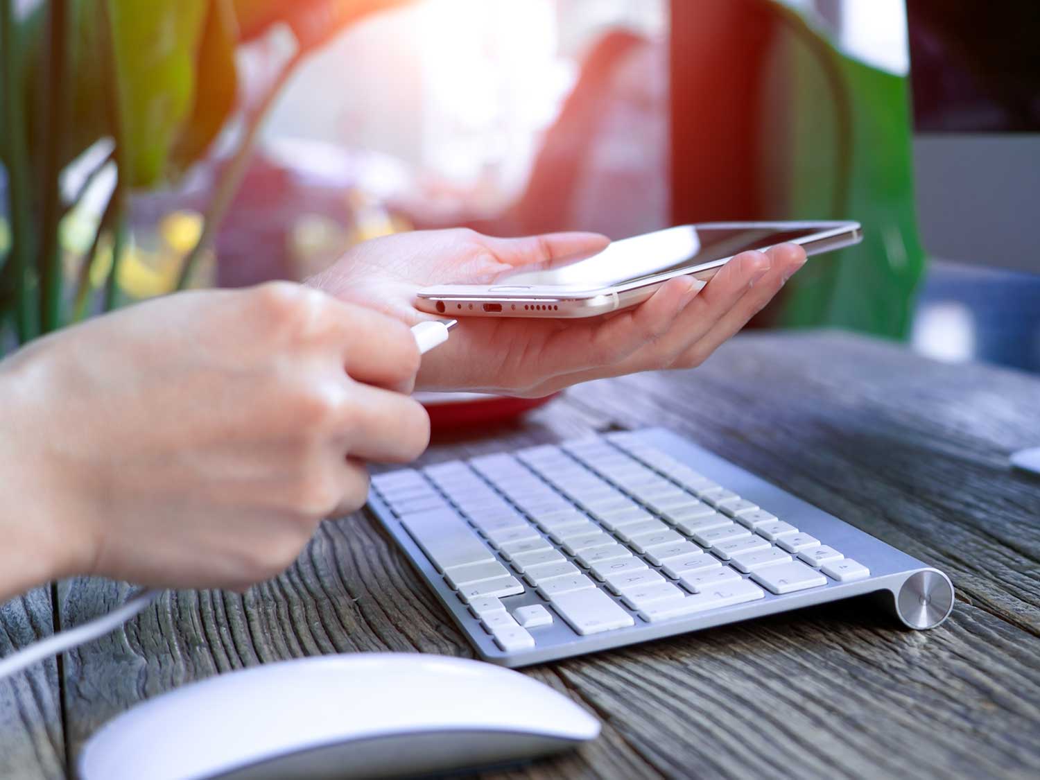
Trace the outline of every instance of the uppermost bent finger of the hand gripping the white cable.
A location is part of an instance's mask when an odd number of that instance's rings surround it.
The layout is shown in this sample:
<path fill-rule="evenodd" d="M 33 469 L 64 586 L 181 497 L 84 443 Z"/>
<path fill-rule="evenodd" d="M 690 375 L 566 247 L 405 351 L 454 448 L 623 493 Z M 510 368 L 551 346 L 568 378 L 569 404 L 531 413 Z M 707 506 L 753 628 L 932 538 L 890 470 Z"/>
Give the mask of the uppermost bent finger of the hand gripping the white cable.
<path fill-rule="evenodd" d="M 408 326 L 372 309 L 331 297 L 329 302 L 350 378 L 370 385 L 410 387 L 420 355 Z"/>

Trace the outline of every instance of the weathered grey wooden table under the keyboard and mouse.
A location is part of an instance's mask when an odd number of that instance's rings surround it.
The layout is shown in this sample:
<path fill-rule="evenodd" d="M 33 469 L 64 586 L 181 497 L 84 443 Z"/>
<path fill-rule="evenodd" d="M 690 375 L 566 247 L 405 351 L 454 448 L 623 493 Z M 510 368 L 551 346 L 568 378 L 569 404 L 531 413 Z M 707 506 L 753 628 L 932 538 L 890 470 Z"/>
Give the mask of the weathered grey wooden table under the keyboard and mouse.
<path fill-rule="evenodd" d="M 603 722 L 509 777 L 1040 777 L 1040 380 L 837 334 L 740 337 L 691 372 L 574 388 L 427 462 L 666 425 L 947 572 L 951 618 L 908 631 L 854 600 L 526 670 Z M 0 612 L 0 653 L 119 603 L 74 580 Z M 301 655 L 471 655 L 363 514 L 324 524 L 244 596 L 181 592 L 123 631 L 0 683 L 0 777 L 62 777 L 134 702 Z M 349 702 L 344 702 L 349 706 Z M 504 777 L 505 775 L 502 775 Z"/>

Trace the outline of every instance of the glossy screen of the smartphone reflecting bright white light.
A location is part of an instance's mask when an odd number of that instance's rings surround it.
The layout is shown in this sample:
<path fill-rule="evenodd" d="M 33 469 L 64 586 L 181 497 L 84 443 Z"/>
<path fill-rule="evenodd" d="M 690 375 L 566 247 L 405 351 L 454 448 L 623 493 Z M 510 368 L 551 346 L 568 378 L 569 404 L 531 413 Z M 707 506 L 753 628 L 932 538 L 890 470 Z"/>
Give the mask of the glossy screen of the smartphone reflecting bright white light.
<path fill-rule="evenodd" d="M 599 289 L 639 283 L 669 271 L 693 271 L 700 265 L 818 233 L 817 227 L 696 228 L 684 225 L 615 241 L 595 255 L 569 257 L 525 266 L 496 277 L 496 286 L 530 285 Z"/>

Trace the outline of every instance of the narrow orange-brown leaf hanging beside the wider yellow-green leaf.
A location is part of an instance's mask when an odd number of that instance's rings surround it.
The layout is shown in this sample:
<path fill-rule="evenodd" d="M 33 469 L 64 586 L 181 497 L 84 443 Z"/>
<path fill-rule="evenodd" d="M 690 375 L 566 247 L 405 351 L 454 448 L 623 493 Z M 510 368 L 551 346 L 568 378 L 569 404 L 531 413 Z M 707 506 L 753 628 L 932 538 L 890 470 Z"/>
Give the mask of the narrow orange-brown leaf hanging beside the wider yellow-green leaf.
<path fill-rule="evenodd" d="M 232 0 L 211 0 L 199 47 L 199 74 L 191 115 L 174 146 L 171 166 L 177 176 L 199 159 L 220 132 L 235 106 L 238 26 Z"/>

